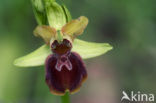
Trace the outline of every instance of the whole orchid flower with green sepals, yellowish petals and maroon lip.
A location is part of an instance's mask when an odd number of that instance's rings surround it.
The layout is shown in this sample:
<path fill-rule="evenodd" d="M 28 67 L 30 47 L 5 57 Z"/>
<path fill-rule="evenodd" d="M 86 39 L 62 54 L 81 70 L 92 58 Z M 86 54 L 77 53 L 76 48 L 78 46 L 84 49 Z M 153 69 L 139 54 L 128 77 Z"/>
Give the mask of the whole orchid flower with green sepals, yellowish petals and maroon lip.
<path fill-rule="evenodd" d="M 34 0 L 32 0 L 34 1 Z M 77 39 L 88 25 L 88 18 L 80 16 L 70 20 L 65 6 L 45 0 L 45 10 L 34 6 L 38 26 L 34 30 L 45 44 L 34 52 L 15 60 L 19 67 L 45 65 L 45 81 L 52 94 L 64 95 L 79 91 L 87 79 L 83 59 L 100 56 L 112 49 L 108 43 L 93 43 Z M 42 6 L 41 6 L 42 7 Z M 43 10 L 43 12 L 41 12 Z M 48 25 L 43 17 L 46 12 Z"/>

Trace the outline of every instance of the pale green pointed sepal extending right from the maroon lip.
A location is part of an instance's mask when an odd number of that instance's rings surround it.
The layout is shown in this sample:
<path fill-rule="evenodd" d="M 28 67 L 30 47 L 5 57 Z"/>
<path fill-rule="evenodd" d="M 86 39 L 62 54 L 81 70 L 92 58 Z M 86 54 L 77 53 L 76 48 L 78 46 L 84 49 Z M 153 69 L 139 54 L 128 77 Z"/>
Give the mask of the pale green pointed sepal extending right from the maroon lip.
<path fill-rule="evenodd" d="M 88 59 L 105 54 L 112 48 L 108 43 L 93 43 L 75 39 L 72 51 L 79 53 L 83 59 Z"/>

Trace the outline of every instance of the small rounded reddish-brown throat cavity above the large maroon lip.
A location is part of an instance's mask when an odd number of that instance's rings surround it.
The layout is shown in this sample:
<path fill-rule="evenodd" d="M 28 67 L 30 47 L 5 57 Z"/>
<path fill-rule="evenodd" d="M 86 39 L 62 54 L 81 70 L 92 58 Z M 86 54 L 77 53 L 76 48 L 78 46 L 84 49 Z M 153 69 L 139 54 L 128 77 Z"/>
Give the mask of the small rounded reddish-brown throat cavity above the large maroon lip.
<path fill-rule="evenodd" d="M 69 40 L 63 39 L 61 43 L 59 43 L 57 40 L 55 40 L 51 44 L 51 50 L 54 54 L 58 55 L 64 55 L 71 51 L 72 44 Z"/>

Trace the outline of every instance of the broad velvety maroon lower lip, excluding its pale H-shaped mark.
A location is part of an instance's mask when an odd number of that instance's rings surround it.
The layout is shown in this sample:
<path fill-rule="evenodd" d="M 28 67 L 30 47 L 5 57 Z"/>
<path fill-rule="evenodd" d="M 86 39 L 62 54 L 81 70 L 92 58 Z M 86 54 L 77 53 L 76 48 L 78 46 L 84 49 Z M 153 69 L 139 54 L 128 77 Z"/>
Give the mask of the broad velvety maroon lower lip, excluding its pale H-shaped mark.
<path fill-rule="evenodd" d="M 79 54 L 70 52 L 63 61 L 68 60 L 72 68 L 69 69 L 65 63 L 61 70 L 58 70 L 56 65 L 61 60 L 60 58 L 61 56 L 57 54 L 51 54 L 47 57 L 45 63 L 46 83 L 53 94 L 63 95 L 66 91 L 74 93 L 79 90 L 82 82 L 87 78 L 84 63 Z"/>

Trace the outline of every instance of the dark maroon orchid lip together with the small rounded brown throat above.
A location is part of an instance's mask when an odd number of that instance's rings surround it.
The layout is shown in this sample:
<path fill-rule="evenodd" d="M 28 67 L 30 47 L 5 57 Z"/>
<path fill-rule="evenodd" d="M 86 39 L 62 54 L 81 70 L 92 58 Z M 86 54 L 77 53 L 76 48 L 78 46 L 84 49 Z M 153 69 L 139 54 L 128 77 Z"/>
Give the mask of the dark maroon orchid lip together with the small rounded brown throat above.
<path fill-rule="evenodd" d="M 67 39 L 52 43 L 53 54 L 46 59 L 46 83 L 53 94 L 63 95 L 79 90 L 87 78 L 85 65 L 79 54 L 71 52 L 72 44 Z"/>

